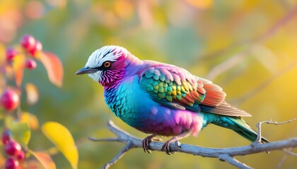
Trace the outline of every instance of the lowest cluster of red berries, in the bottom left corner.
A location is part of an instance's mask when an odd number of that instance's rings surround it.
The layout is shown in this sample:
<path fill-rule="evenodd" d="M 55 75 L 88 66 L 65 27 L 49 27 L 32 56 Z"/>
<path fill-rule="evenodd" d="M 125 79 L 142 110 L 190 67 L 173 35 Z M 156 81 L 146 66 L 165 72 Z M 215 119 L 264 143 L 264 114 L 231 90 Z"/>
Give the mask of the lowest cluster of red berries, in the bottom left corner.
<path fill-rule="evenodd" d="M 5 130 L 2 133 L 1 141 L 4 144 L 4 149 L 8 158 L 6 158 L 5 168 L 6 169 L 18 169 L 20 163 L 25 159 L 25 151 L 18 142 L 11 139 L 9 130 Z"/>

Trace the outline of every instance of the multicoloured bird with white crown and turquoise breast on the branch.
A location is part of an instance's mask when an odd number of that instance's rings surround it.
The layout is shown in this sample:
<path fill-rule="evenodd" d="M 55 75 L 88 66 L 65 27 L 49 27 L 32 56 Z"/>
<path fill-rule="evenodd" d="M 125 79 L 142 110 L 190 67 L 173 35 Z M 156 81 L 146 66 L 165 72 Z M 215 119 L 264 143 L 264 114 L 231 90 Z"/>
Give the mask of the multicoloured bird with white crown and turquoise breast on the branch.
<path fill-rule="evenodd" d="M 225 101 L 221 87 L 175 65 L 141 61 L 121 46 L 103 46 L 88 58 L 76 75 L 88 74 L 104 87 L 105 102 L 124 123 L 149 133 L 144 151 L 157 135 L 172 137 L 170 144 L 197 135 L 212 123 L 231 129 L 254 142 L 257 132 L 245 123 L 249 113 Z M 262 142 L 269 142 L 262 137 Z"/>

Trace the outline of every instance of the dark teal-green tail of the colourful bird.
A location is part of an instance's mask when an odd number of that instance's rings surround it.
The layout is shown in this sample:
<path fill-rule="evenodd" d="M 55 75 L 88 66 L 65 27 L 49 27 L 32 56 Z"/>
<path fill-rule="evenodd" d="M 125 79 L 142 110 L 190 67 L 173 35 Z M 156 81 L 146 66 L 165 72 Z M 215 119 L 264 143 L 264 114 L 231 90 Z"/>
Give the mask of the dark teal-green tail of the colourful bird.
<path fill-rule="evenodd" d="M 245 120 L 243 120 L 243 118 L 221 116 L 220 123 L 214 124 L 231 129 L 234 132 L 240 134 L 242 137 L 245 137 L 245 139 L 250 140 L 251 142 L 255 142 L 255 140 L 257 139 L 257 132 L 255 132 L 255 130 L 252 130 L 250 125 L 245 123 Z M 261 142 L 268 143 L 269 141 L 268 139 L 261 137 Z"/>

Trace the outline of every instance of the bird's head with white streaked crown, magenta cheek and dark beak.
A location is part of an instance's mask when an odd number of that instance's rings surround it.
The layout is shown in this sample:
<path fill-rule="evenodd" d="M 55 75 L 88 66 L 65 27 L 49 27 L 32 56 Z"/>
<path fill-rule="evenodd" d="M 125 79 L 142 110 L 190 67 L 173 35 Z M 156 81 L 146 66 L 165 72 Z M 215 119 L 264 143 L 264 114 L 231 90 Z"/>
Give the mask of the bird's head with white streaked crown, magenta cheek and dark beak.
<path fill-rule="evenodd" d="M 129 51 L 121 46 L 103 46 L 95 50 L 85 67 L 77 70 L 75 74 L 88 74 L 95 82 L 110 86 L 122 79 L 129 54 Z"/>

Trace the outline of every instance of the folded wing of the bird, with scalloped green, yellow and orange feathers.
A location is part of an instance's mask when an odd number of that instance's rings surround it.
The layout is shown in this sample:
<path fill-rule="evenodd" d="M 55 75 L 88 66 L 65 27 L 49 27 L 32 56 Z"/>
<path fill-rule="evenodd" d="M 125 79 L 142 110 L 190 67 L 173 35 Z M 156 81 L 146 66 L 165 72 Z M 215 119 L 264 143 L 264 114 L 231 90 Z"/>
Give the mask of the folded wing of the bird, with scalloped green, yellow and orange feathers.
<path fill-rule="evenodd" d="M 250 116 L 228 104 L 226 93 L 209 80 L 196 77 L 177 67 L 158 66 L 143 70 L 139 84 L 151 99 L 163 106 L 199 113 L 216 113 L 231 116 Z"/>

